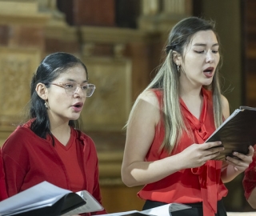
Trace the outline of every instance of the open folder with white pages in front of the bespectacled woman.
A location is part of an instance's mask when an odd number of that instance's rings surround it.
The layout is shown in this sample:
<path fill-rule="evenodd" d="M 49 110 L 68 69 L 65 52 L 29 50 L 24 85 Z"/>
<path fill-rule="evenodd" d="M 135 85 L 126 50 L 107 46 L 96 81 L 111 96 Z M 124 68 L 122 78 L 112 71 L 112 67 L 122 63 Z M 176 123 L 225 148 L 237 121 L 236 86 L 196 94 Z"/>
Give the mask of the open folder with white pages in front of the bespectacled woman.
<path fill-rule="evenodd" d="M 50 182 L 41 182 L 0 202 L 0 216 L 68 216 L 102 209 L 88 191 L 74 193 Z"/>

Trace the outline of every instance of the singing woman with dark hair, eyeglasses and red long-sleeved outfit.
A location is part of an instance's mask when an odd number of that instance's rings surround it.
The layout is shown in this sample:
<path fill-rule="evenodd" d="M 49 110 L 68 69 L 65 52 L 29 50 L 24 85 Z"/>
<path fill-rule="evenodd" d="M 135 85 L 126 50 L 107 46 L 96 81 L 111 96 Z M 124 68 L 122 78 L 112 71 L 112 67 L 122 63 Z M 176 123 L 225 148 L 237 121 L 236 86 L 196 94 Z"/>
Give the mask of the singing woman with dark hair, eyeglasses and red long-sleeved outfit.
<path fill-rule="evenodd" d="M 8 195 L 47 181 L 74 192 L 87 190 L 101 203 L 94 142 L 78 124 L 95 89 L 88 83 L 86 66 L 74 55 L 50 54 L 38 66 L 30 88 L 28 121 L 2 146 Z"/>

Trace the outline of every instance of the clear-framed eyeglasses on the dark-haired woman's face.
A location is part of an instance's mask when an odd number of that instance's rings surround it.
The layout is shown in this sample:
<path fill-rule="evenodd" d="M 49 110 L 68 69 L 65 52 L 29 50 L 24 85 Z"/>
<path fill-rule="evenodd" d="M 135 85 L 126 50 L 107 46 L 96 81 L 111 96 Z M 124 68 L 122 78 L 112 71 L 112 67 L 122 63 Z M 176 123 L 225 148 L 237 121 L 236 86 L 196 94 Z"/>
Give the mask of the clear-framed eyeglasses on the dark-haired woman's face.
<path fill-rule="evenodd" d="M 80 86 L 77 82 L 73 82 L 73 81 L 63 82 L 63 83 L 49 82 L 48 84 L 64 88 L 66 90 L 66 94 L 69 94 L 69 95 L 75 94 L 78 91 L 78 88 L 81 88 L 82 93 L 85 94 L 86 97 L 90 97 L 91 95 L 93 95 L 94 90 L 96 88 L 94 84 L 86 83 Z"/>

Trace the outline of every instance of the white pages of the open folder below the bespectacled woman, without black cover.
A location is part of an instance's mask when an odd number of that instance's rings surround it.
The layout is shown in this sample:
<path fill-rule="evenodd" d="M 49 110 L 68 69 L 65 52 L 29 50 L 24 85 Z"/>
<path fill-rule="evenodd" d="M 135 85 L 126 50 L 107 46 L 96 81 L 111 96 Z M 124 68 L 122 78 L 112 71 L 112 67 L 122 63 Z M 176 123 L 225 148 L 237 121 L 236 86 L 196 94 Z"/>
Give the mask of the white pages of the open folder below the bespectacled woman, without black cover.
<path fill-rule="evenodd" d="M 53 206 L 63 196 L 70 193 L 73 192 L 54 186 L 50 182 L 41 182 L 0 202 L 0 216 Z M 82 190 L 76 194 L 83 198 L 86 204 L 63 215 L 74 215 L 103 209 L 101 204 L 88 191 Z"/>

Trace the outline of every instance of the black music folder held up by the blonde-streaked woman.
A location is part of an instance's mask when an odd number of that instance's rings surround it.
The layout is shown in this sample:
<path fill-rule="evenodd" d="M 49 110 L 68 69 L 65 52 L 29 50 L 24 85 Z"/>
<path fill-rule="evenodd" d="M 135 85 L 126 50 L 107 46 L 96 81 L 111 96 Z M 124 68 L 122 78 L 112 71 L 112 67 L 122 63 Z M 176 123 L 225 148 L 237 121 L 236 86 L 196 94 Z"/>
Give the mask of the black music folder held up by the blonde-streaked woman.
<path fill-rule="evenodd" d="M 225 150 L 213 160 L 225 160 L 226 156 L 234 158 L 237 151 L 248 154 L 249 146 L 256 144 L 256 108 L 240 106 L 229 118 L 211 134 L 206 142 L 221 141 Z"/>

